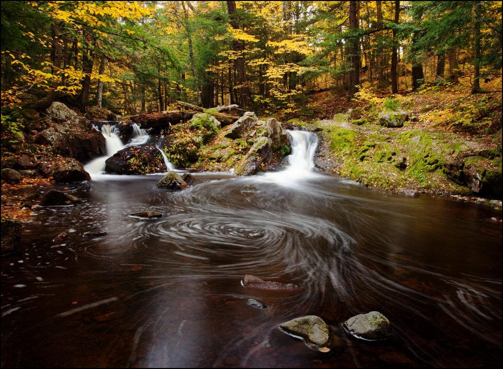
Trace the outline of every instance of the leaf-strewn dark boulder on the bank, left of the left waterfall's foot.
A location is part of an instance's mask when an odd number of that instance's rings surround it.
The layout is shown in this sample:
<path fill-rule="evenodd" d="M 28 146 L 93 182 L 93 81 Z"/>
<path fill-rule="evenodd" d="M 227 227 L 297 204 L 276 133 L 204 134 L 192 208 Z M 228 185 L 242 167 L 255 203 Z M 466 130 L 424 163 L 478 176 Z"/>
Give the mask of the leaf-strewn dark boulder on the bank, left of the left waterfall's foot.
<path fill-rule="evenodd" d="M 58 183 L 82 182 L 91 179 L 84 166 L 71 157 L 45 157 L 39 162 L 40 170 L 46 177 L 53 177 Z"/>

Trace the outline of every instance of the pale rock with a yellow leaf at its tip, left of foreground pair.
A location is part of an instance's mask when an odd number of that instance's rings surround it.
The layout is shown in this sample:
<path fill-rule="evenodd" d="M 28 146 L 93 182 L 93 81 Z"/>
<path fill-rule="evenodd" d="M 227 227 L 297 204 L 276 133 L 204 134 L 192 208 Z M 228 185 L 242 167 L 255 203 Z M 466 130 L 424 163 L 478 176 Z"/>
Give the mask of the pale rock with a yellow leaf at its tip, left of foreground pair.
<path fill-rule="evenodd" d="M 330 351 L 330 328 L 319 316 L 308 315 L 288 320 L 279 329 L 294 337 L 301 337 L 314 350 Z"/>

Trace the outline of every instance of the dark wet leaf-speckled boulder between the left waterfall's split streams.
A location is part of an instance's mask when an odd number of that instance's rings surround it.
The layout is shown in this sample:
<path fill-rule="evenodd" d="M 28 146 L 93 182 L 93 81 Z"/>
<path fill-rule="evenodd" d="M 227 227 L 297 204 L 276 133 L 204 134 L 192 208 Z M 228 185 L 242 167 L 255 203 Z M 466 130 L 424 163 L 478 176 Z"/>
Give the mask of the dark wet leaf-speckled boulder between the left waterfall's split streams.
<path fill-rule="evenodd" d="M 105 172 L 148 174 L 166 171 L 163 156 L 154 144 L 129 146 L 106 159 Z"/>

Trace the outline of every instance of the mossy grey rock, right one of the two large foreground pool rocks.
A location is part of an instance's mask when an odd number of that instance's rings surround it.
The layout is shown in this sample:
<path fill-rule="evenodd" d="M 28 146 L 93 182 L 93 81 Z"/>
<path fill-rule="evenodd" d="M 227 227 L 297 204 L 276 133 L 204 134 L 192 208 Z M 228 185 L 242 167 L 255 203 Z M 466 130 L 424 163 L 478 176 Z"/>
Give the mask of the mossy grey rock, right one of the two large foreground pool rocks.
<path fill-rule="evenodd" d="M 342 327 L 352 336 L 369 341 L 393 337 L 390 321 L 378 311 L 353 316 L 346 320 Z"/>

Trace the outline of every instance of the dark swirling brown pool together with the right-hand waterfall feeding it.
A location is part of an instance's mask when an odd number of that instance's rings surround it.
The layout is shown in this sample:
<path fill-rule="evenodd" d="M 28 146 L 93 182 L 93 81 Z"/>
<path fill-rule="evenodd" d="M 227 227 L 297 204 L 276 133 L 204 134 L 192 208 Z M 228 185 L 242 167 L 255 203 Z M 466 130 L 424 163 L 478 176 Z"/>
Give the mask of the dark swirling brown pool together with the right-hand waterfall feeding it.
<path fill-rule="evenodd" d="M 79 205 L 39 209 L 22 255 L 2 258 L 2 366 L 499 366 L 498 213 L 312 171 L 316 137 L 292 136 L 284 172 L 195 173 L 181 192 L 158 189 L 162 175 L 101 176 L 65 190 Z M 163 217 L 128 217 L 142 210 Z M 82 237 L 94 230 L 108 234 Z M 244 274 L 300 288 L 247 289 Z M 374 310 L 396 339 L 342 330 Z M 304 315 L 340 350 L 277 329 Z"/>

